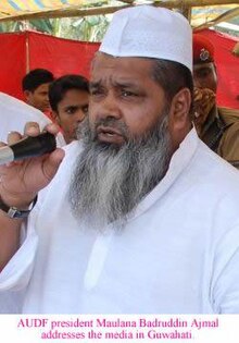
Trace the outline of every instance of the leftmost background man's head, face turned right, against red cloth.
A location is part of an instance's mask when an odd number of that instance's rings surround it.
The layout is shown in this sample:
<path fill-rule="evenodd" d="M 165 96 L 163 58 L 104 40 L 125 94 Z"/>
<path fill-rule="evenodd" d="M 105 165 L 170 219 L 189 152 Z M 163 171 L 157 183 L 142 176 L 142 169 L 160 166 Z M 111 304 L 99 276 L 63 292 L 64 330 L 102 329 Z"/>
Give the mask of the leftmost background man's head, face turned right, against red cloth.
<path fill-rule="evenodd" d="M 46 69 L 35 69 L 26 74 L 22 82 L 26 102 L 41 112 L 48 112 L 50 110 L 48 91 L 53 79 L 53 74 Z"/>

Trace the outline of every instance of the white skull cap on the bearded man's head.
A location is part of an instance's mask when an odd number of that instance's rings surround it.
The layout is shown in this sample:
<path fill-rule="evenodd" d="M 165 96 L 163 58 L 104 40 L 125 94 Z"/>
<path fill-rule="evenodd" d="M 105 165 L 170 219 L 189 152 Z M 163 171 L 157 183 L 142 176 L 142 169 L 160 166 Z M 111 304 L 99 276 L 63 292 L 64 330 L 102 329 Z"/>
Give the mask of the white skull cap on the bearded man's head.
<path fill-rule="evenodd" d="M 175 61 L 192 71 L 190 24 L 164 8 L 137 5 L 117 11 L 99 50 L 114 57 Z"/>

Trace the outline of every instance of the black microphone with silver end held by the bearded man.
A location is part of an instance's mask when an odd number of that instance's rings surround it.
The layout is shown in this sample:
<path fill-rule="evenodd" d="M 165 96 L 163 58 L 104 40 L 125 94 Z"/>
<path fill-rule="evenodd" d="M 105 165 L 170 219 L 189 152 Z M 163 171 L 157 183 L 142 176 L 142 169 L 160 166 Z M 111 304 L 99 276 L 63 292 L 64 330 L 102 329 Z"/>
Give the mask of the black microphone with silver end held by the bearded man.
<path fill-rule="evenodd" d="M 56 148 L 54 135 L 45 132 L 36 137 L 26 137 L 0 148 L 0 164 L 52 152 Z"/>

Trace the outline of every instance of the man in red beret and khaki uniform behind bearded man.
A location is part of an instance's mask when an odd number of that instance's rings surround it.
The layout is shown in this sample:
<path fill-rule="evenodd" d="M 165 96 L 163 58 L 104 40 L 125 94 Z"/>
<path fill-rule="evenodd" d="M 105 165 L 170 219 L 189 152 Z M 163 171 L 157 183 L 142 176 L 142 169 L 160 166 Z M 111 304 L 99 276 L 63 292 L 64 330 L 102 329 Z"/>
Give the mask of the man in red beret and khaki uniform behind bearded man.
<path fill-rule="evenodd" d="M 217 73 L 214 47 L 193 35 L 194 123 L 201 139 L 222 158 L 239 168 L 239 111 L 216 106 Z"/>

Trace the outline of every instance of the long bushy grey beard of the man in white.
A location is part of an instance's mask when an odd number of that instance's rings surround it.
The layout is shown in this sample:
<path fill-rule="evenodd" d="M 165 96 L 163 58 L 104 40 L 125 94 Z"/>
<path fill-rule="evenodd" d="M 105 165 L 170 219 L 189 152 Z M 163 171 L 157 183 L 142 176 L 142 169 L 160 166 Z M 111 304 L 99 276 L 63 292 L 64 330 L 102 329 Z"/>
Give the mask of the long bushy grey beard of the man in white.
<path fill-rule="evenodd" d="M 162 180 L 172 145 L 167 113 L 161 118 L 143 137 L 128 138 L 121 147 L 100 143 L 88 121 L 81 124 L 84 150 L 68 192 L 72 211 L 79 221 L 99 231 L 111 222 L 122 229 L 140 200 Z"/>

